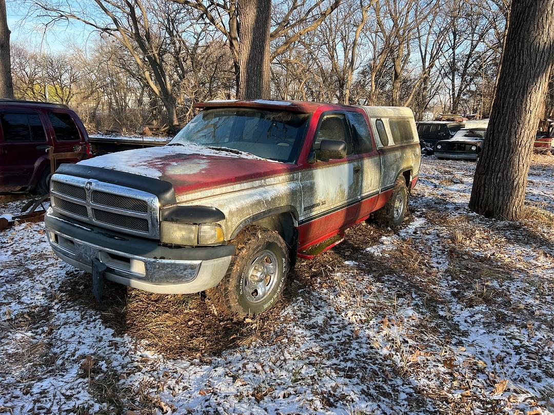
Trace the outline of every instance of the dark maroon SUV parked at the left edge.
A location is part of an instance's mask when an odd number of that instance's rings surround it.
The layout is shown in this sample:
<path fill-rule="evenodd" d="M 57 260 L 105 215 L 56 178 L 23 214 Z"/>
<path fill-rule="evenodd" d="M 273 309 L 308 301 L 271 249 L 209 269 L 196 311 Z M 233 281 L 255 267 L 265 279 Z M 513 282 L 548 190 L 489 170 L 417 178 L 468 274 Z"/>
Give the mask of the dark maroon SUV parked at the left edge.
<path fill-rule="evenodd" d="M 0 191 L 47 193 L 49 147 L 54 153 L 81 153 L 58 158 L 58 164 L 89 157 L 89 137 L 74 111 L 48 102 L 0 100 Z"/>

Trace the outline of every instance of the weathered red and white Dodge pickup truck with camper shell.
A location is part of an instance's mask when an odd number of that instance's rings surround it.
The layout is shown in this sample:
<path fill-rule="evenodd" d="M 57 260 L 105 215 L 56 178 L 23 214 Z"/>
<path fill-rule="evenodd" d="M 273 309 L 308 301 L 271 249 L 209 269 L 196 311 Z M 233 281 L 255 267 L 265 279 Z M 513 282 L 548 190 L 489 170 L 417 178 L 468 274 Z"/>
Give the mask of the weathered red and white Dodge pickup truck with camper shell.
<path fill-rule="evenodd" d="M 56 255 L 155 293 L 206 291 L 232 317 L 269 309 L 296 256 L 375 216 L 397 227 L 420 146 L 409 108 L 211 101 L 164 147 L 63 165 L 45 217 Z"/>

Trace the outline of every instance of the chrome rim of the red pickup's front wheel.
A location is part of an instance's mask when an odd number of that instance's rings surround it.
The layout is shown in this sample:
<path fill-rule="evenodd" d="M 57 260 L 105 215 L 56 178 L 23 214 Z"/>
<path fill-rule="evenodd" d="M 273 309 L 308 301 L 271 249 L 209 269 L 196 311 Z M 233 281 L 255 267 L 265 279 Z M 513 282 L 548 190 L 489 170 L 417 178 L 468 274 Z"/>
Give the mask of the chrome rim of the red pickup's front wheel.
<path fill-rule="evenodd" d="M 263 250 L 254 257 L 244 273 L 243 289 L 250 303 L 260 303 L 269 297 L 278 277 L 277 256 L 273 251 Z"/>

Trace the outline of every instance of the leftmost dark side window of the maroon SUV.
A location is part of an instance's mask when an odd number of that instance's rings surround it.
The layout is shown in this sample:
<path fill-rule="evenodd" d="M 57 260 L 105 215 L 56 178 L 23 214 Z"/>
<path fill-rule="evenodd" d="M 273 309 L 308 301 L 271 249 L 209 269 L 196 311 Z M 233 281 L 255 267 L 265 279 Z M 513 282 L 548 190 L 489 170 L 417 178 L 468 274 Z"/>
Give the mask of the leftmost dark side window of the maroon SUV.
<path fill-rule="evenodd" d="M 46 141 L 46 134 L 37 113 L 3 112 L 0 122 L 4 132 L 4 142 Z"/>

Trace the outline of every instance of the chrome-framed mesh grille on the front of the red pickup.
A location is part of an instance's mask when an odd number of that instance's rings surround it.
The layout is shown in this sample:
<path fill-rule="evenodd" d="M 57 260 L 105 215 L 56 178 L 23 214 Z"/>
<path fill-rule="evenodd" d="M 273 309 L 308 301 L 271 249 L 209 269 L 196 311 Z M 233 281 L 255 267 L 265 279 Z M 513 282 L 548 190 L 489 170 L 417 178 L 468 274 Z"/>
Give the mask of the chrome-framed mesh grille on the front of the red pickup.
<path fill-rule="evenodd" d="M 65 174 L 52 176 L 50 194 L 59 214 L 127 234 L 160 237 L 160 208 L 153 194 Z"/>

